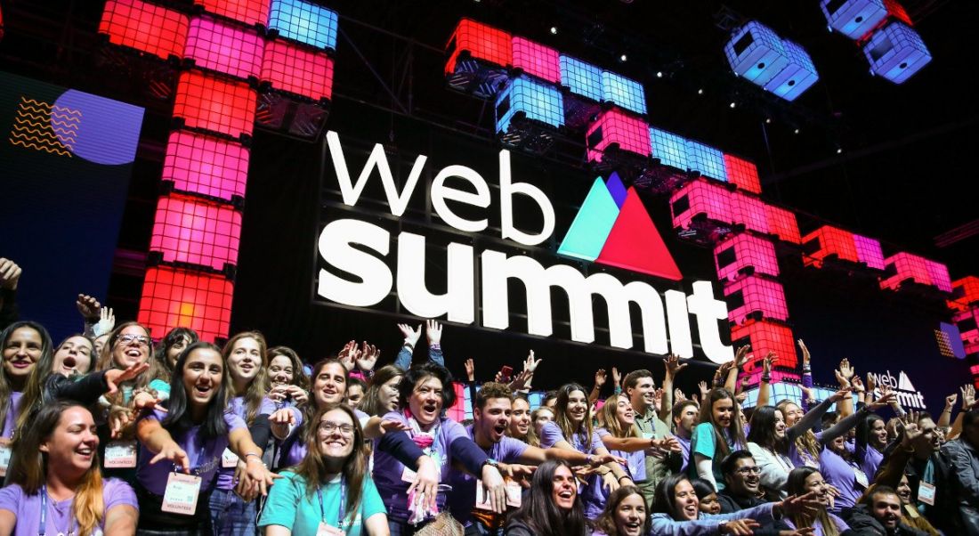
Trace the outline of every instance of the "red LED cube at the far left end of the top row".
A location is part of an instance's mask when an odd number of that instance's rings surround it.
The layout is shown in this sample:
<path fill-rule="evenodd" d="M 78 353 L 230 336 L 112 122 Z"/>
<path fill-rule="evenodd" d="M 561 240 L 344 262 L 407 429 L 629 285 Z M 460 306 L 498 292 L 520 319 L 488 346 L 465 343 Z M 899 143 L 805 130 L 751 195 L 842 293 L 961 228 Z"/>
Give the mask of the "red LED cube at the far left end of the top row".
<path fill-rule="evenodd" d="M 187 41 L 187 17 L 139 0 L 108 0 L 99 22 L 99 33 L 109 42 L 159 56 L 183 57 Z"/>

